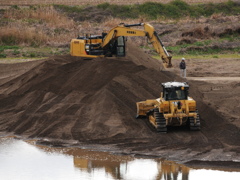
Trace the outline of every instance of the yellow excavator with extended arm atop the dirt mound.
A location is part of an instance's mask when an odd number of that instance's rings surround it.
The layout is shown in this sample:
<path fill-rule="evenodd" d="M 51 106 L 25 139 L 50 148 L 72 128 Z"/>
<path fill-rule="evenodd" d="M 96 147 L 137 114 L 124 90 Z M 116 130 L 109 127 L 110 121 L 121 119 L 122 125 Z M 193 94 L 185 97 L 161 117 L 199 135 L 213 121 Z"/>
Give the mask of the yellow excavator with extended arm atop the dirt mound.
<path fill-rule="evenodd" d="M 136 29 L 133 27 L 143 27 Z M 171 56 L 165 49 L 161 39 L 157 35 L 153 26 L 148 23 L 124 24 L 112 28 L 102 35 L 86 34 L 71 40 L 70 53 L 72 56 L 86 58 L 97 57 L 124 57 L 126 54 L 125 42 L 127 36 L 146 36 L 154 49 L 161 56 L 165 67 L 172 67 Z"/>

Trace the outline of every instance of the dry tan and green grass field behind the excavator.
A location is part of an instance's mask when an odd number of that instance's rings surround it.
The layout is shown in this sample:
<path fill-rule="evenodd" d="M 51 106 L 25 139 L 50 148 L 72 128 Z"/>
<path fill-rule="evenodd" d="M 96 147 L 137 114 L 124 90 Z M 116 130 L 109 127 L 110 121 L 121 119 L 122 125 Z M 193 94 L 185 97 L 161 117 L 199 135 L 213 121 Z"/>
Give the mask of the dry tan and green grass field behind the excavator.
<path fill-rule="evenodd" d="M 0 0 L 0 3 L 4 1 Z M 31 2 L 50 3 L 53 0 Z M 64 3 L 65 0 L 54 2 Z M 232 1 L 194 5 L 180 0 L 168 4 L 148 2 L 139 5 L 105 2 L 91 7 L 0 6 L 0 58 L 38 58 L 68 54 L 70 40 L 78 35 L 101 34 L 102 30 L 108 30 L 121 22 L 134 24 L 139 20 L 153 23 L 167 44 L 167 49 L 175 56 L 211 54 L 217 58 L 219 56 L 215 54 L 239 52 L 240 5 Z M 138 46 L 146 46 L 143 38 L 134 38 L 133 41 Z"/>

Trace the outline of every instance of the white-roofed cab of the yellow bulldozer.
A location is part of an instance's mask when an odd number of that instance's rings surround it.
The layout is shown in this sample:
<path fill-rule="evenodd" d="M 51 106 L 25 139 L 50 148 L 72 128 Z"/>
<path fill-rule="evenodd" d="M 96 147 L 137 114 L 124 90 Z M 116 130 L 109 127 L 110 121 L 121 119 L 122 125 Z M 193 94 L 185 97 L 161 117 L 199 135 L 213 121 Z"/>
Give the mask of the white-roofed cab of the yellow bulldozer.
<path fill-rule="evenodd" d="M 181 82 L 162 83 L 163 98 L 169 100 L 187 100 L 189 85 Z"/>

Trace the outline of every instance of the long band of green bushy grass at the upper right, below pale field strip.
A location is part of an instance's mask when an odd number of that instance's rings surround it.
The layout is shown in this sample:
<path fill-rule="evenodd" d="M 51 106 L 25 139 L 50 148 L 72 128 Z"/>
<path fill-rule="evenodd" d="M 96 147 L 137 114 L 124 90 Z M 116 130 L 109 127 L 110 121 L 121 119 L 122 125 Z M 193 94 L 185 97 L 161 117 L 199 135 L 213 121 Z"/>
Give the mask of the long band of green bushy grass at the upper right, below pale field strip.
<path fill-rule="evenodd" d="M 148 19 L 157 19 L 158 17 L 179 19 L 186 16 L 208 17 L 218 13 L 236 15 L 240 12 L 240 5 L 232 1 L 195 5 L 189 5 L 181 0 L 174 0 L 167 4 L 146 2 L 140 5 L 113 5 L 103 3 L 97 5 L 97 8 L 111 12 L 113 17 L 136 18 L 145 16 Z"/>

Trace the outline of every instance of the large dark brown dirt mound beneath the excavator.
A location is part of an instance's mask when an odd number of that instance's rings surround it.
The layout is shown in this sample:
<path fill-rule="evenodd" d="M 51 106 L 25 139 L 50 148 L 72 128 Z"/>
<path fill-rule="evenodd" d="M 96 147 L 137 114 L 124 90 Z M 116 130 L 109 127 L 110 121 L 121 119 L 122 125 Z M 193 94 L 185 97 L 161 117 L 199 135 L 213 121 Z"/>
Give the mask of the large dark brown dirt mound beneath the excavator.
<path fill-rule="evenodd" d="M 180 78 L 161 71 L 160 61 L 141 50 L 130 46 L 128 52 L 126 58 L 52 57 L 7 81 L 1 85 L 0 131 L 131 151 L 238 149 L 239 129 L 208 107 L 193 83 L 200 132 L 179 127 L 159 134 L 136 120 L 137 101 L 158 97 L 162 82 Z"/>

